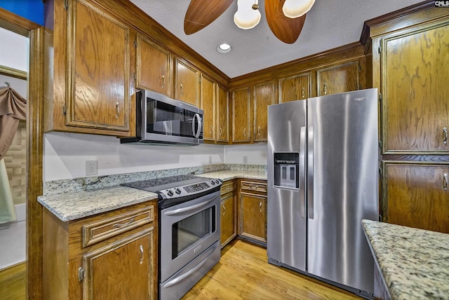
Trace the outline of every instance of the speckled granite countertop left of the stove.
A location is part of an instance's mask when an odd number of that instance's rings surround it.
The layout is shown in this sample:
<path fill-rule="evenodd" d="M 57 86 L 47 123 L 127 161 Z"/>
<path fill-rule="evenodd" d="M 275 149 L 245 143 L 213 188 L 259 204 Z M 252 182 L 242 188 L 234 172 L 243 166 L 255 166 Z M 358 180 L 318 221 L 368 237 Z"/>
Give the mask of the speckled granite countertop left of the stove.
<path fill-rule="evenodd" d="M 81 219 L 153 199 L 157 199 L 155 193 L 126 186 L 59 193 L 37 198 L 43 207 L 46 207 L 62 221 Z"/>

